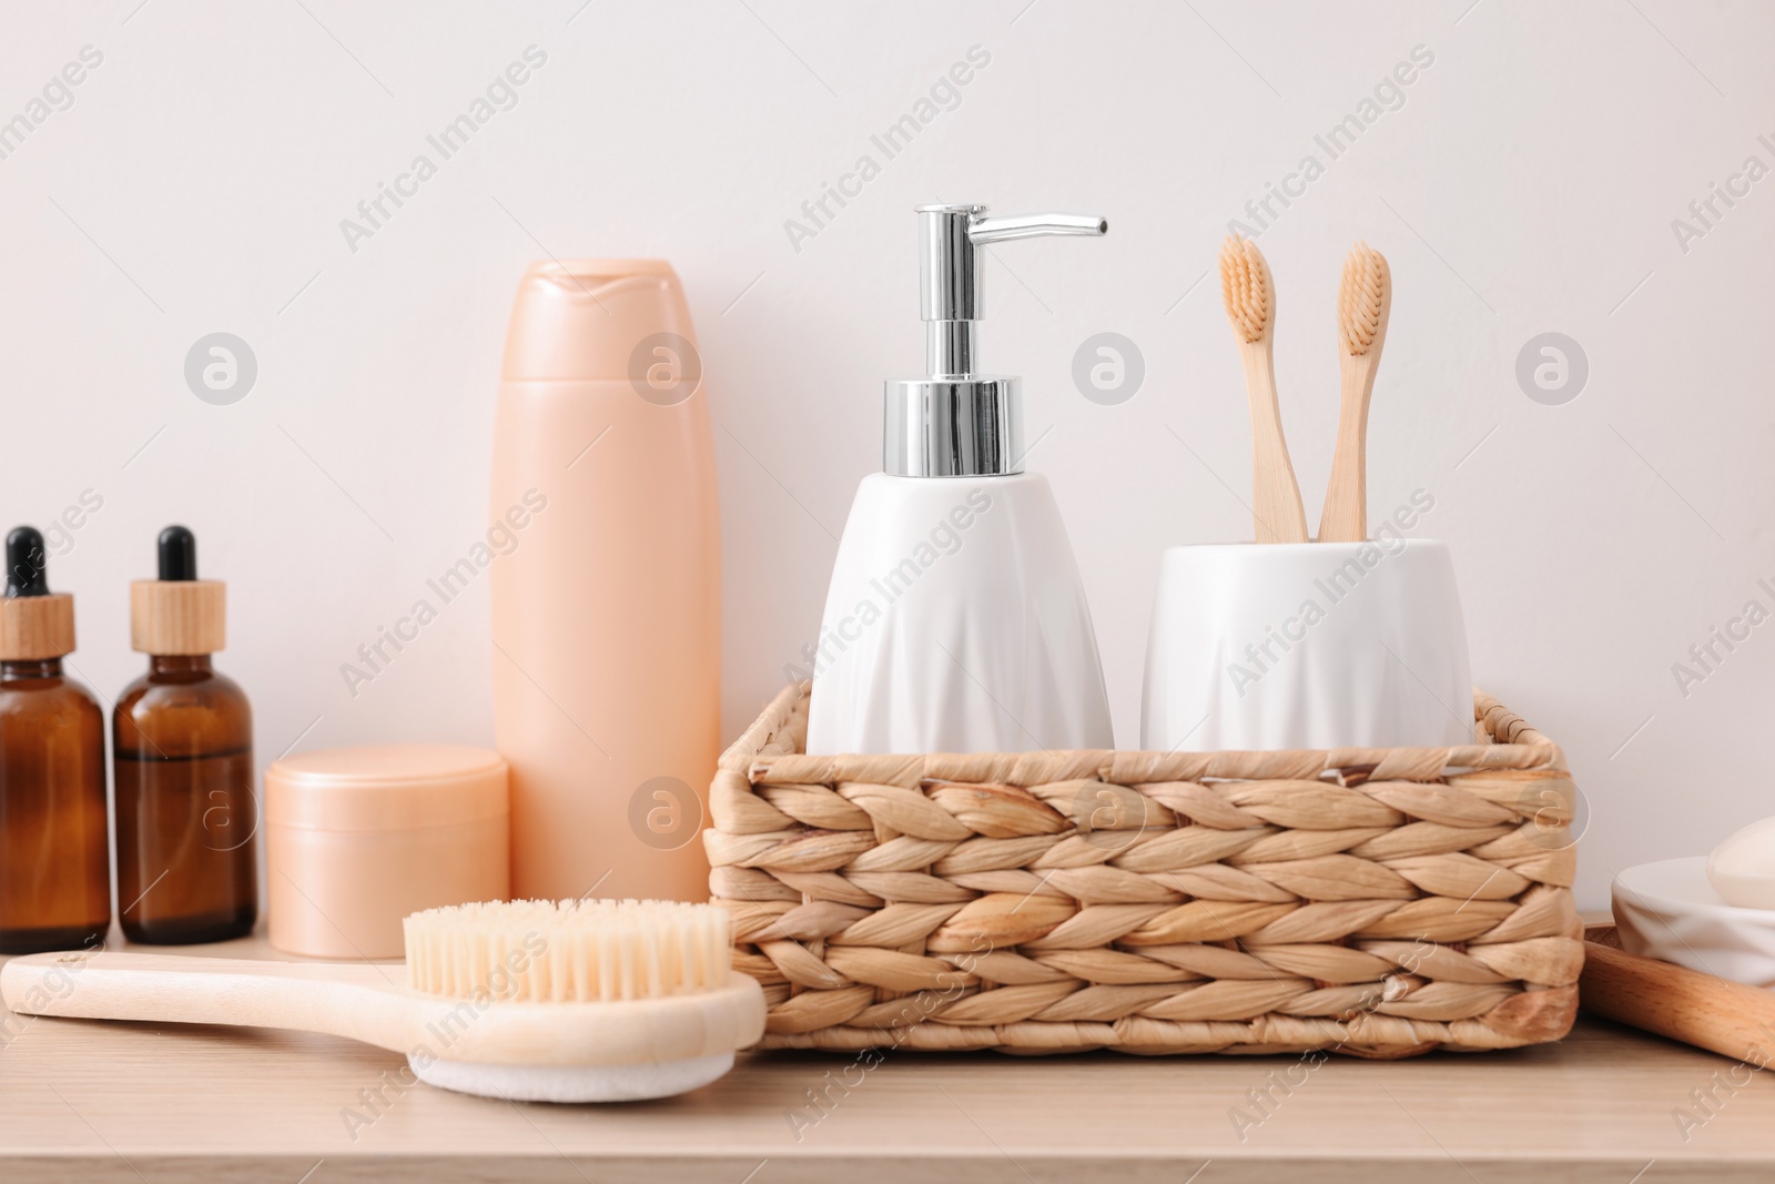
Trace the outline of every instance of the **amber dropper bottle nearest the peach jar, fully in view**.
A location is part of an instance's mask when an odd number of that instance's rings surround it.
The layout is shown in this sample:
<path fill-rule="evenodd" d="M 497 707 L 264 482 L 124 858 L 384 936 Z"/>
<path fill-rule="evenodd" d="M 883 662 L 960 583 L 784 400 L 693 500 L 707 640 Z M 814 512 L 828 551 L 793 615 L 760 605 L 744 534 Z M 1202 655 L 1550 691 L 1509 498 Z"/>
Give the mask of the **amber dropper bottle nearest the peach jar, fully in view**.
<path fill-rule="evenodd" d="M 197 540 L 160 533 L 160 579 L 130 584 L 130 644 L 147 673 L 112 714 L 117 902 L 124 937 L 225 941 L 259 918 L 252 708 L 209 666 L 224 646 L 225 586 L 197 579 Z"/>

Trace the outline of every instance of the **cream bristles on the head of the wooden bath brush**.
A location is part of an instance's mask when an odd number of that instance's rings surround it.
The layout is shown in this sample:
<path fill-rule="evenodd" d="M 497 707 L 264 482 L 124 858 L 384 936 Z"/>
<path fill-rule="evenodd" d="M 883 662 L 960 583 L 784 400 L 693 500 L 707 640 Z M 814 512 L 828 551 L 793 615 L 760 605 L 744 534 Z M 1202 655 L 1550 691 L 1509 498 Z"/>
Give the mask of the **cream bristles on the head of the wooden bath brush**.
<path fill-rule="evenodd" d="M 669 900 L 509 900 L 403 921 L 414 991 L 596 1003 L 717 991 L 733 964 L 728 911 Z"/>

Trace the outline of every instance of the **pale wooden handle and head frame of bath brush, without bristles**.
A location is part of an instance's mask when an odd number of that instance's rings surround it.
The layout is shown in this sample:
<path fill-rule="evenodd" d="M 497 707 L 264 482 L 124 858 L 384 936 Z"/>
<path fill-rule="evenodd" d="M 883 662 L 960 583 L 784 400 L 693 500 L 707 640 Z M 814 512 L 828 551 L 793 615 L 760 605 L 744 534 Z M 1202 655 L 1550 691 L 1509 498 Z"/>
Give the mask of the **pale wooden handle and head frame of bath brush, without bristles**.
<path fill-rule="evenodd" d="M 248 962 L 167 953 L 34 953 L 0 967 L 21 1015 L 321 1031 L 394 1053 L 493 1065 L 646 1065 L 763 1037 L 756 980 L 619 1003 L 495 1003 L 406 987 L 406 967 Z"/>

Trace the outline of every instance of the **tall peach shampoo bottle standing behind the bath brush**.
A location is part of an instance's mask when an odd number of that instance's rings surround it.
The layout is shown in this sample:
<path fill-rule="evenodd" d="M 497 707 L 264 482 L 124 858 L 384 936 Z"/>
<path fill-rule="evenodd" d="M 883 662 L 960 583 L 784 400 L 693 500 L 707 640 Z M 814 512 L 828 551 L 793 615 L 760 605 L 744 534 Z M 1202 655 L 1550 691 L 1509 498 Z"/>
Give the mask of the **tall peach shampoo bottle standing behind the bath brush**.
<path fill-rule="evenodd" d="M 493 728 L 515 898 L 706 900 L 721 746 L 708 394 L 660 259 L 532 264 L 493 430 Z"/>

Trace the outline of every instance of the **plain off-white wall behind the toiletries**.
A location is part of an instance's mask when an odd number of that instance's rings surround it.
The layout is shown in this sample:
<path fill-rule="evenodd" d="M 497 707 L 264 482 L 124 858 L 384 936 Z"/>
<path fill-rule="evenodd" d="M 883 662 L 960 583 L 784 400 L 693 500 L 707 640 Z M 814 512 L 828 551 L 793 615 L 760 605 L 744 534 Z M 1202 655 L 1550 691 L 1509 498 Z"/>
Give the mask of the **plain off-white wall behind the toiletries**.
<path fill-rule="evenodd" d="M 1775 625 L 1684 694 L 1672 664 L 1747 600 L 1775 609 L 1775 179 L 1699 240 L 1672 218 L 1775 165 L 1775 7 L 1676 0 L 829 5 L 339 0 L 16 5 L 0 119 L 83 46 L 103 62 L 0 160 L 0 517 L 103 497 L 51 584 L 80 675 L 138 673 L 126 584 L 190 524 L 231 584 L 261 763 L 298 742 L 488 742 L 486 589 L 353 698 L 339 673 L 485 529 L 504 321 L 524 264 L 673 259 L 714 385 L 726 731 L 818 628 L 836 536 L 879 465 L 880 382 L 916 373 L 911 208 L 1104 213 L 1099 243 L 1001 249 L 987 350 L 1026 376 L 1097 616 L 1116 733 L 1138 738 L 1157 554 L 1250 538 L 1250 438 L 1216 280 L 1228 218 L 1415 46 L 1434 64 L 1262 234 L 1278 371 L 1317 520 L 1337 422 L 1333 296 L 1353 238 L 1393 268 L 1370 508 L 1436 497 L 1475 678 L 1566 746 L 1610 870 L 1775 813 Z M 525 46 L 547 66 L 353 254 L 341 218 Z M 815 240 L 785 220 L 969 46 L 990 64 Z M 879 156 L 879 154 L 877 154 Z M 1740 185 L 1741 188 L 1741 185 Z M 1699 225 L 1699 224 L 1697 224 Z M 186 389 L 225 330 L 259 378 Z M 1072 387 L 1090 334 L 1141 348 L 1134 399 Z M 1589 357 L 1530 401 L 1535 334 Z M 1173 437 L 1175 433 L 1175 437 Z M 1177 437 L 1189 442 L 1200 462 Z M 1205 462 L 1205 463 L 1203 463 Z"/>

